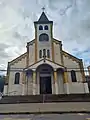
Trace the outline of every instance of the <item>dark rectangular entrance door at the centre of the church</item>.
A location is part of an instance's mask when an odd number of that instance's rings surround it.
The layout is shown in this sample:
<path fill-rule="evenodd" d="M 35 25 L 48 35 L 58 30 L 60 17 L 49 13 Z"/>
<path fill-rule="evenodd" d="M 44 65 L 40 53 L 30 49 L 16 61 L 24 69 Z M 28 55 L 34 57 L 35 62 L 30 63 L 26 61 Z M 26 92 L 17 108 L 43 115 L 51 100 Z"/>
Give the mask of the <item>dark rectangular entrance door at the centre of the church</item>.
<path fill-rule="evenodd" d="M 52 94 L 51 76 L 40 77 L 40 94 Z"/>

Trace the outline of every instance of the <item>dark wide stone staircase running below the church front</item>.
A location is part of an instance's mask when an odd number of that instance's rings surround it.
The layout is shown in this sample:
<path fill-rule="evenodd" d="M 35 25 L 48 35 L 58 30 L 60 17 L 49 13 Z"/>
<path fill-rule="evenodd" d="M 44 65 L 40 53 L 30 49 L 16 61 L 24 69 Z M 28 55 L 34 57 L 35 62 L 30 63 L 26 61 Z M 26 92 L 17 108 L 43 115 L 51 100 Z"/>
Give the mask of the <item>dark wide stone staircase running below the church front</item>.
<path fill-rule="evenodd" d="M 52 103 L 52 102 L 90 102 L 90 94 L 60 94 L 60 95 L 23 95 L 3 96 L 0 104 L 15 103 Z"/>

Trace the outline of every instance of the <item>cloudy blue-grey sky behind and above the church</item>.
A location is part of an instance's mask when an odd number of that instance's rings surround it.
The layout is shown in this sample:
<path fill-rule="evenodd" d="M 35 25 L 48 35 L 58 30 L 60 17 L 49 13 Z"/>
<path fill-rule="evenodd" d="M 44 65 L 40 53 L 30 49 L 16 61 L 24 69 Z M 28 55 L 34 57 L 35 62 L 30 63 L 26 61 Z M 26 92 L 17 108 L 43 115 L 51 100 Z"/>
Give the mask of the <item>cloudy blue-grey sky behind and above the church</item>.
<path fill-rule="evenodd" d="M 0 69 L 26 51 L 43 6 L 63 49 L 90 64 L 90 0 L 0 0 Z"/>

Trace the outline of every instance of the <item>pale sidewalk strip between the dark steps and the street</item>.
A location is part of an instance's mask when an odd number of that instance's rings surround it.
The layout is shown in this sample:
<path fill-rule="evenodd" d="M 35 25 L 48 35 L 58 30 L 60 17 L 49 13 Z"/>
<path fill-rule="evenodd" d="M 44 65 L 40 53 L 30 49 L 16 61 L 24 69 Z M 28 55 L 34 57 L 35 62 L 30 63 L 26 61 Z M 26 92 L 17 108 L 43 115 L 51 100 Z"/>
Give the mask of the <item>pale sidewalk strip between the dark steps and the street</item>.
<path fill-rule="evenodd" d="M 0 104 L 0 113 L 90 112 L 90 102 Z"/>

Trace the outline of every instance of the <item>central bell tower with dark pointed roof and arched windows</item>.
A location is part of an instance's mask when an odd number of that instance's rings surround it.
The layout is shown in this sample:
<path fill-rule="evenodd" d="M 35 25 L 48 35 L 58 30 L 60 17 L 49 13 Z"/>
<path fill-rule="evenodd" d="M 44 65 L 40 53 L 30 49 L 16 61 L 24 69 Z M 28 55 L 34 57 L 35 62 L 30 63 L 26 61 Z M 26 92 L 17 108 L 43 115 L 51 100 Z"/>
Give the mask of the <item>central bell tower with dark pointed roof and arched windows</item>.
<path fill-rule="evenodd" d="M 43 11 L 35 26 L 35 53 L 36 61 L 43 58 L 52 60 L 52 28 L 53 21 L 49 21 Z"/>

